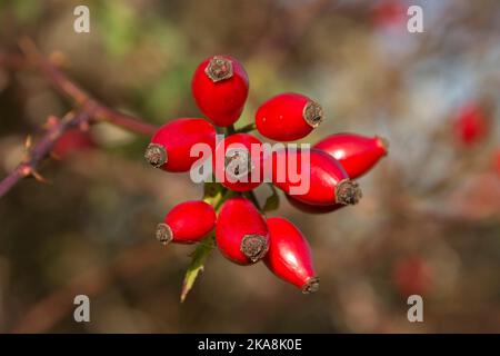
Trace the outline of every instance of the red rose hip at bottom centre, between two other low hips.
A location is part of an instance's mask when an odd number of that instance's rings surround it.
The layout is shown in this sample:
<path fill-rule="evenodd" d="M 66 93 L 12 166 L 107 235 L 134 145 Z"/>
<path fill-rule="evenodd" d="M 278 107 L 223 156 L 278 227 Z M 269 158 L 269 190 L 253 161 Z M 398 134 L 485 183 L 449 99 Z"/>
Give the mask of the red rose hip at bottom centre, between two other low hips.
<path fill-rule="evenodd" d="M 250 265 L 268 251 L 268 227 L 262 215 L 248 199 L 228 199 L 219 212 L 216 240 L 219 250 L 228 259 Z"/>

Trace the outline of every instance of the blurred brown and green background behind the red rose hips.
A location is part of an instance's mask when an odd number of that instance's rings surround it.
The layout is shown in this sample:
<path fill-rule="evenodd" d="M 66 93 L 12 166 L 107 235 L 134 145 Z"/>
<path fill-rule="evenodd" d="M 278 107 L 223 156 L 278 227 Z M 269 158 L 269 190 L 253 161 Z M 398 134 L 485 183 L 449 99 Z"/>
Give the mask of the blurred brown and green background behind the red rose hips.
<path fill-rule="evenodd" d="M 90 33 L 73 32 L 78 4 Z M 407 31 L 410 4 L 423 9 L 423 33 Z M 309 238 L 318 293 L 216 250 L 180 304 L 192 247 L 164 248 L 154 228 L 201 187 L 151 169 L 148 138 L 94 126 L 43 162 L 49 184 L 26 179 L 0 200 L 0 332 L 500 332 L 499 33 L 496 0 L 1 0 L 1 176 L 29 134 L 71 109 L 39 72 L 9 66 L 23 36 L 103 102 L 152 123 L 200 116 L 191 75 L 229 53 L 250 77 L 238 125 L 298 91 L 327 115 L 304 141 L 354 131 L 391 146 L 360 179 L 359 205 L 307 215 L 281 199 L 270 214 Z M 91 323 L 72 318 L 78 294 L 90 296 Z M 407 319 L 411 294 L 423 323 Z"/>

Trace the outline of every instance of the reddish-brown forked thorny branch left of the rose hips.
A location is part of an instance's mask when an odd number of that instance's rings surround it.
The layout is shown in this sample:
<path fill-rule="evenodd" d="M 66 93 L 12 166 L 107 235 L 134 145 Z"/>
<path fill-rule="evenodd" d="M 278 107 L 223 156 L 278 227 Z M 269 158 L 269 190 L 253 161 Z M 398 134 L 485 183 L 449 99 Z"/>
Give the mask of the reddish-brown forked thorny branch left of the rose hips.
<path fill-rule="evenodd" d="M 38 165 L 43 158 L 49 156 L 52 146 L 58 138 L 71 128 L 87 127 L 90 123 L 106 121 L 141 135 L 151 136 L 156 131 L 156 126 L 147 123 L 142 119 L 109 108 L 90 96 L 53 62 L 46 59 L 31 40 L 21 40 L 20 48 L 26 58 L 16 55 L 9 59 L 9 57 L 2 56 L 0 66 L 19 69 L 24 67 L 21 66 L 21 63 L 24 65 L 24 61 L 32 62 L 58 91 L 73 101 L 76 111 L 69 112 L 61 120 L 57 120 L 53 125 L 50 125 L 37 145 L 27 147 L 26 158 L 13 171 L 0 181 L 0 198 L 22 178 L 33 176 L 37 179 L 42 180 L 42 177 L 37 171 Z"/>

